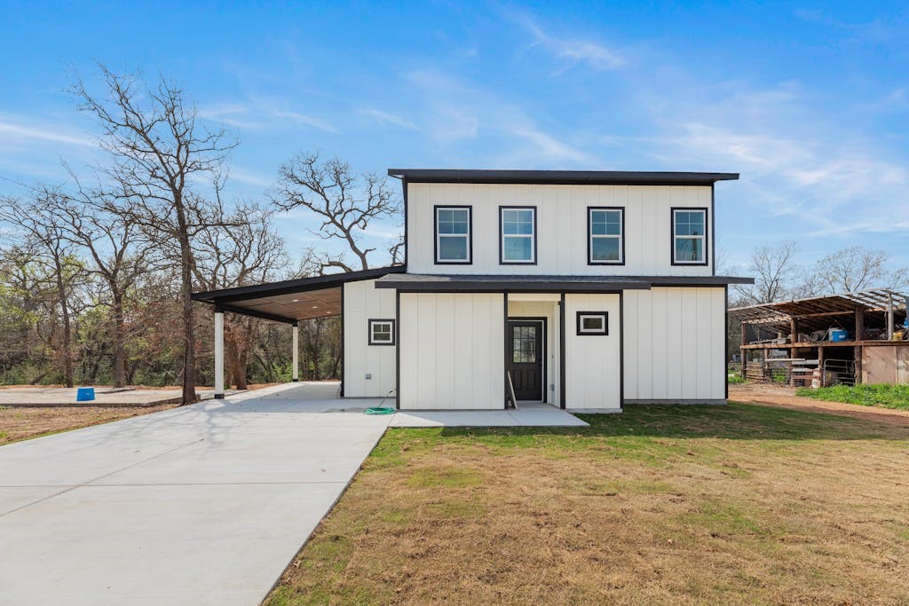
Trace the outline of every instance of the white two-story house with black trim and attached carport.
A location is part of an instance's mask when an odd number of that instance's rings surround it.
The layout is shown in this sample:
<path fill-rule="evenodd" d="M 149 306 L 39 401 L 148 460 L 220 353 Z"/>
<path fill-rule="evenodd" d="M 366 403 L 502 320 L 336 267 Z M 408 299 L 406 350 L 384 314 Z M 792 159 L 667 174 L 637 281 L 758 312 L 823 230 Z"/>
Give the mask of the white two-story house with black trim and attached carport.
<path fill-rule="evenodd" d="M 344 396 L 400 409 L 725 402 L 726 288 L 751 280 L 716 275 L 714 189 L 737 174 L 388 174 L 403 266 L 196 297 L 291 324 L 341 315 Z"/>

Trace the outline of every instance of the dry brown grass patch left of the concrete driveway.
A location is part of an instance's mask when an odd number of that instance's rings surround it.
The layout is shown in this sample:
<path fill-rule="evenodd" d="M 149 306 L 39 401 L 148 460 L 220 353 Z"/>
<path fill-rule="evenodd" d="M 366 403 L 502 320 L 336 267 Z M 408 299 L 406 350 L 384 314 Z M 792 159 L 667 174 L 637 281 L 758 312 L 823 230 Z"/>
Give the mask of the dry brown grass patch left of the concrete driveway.
<path fill-rule="evenodd" d="M 149 412 L 165 411 L 176 404 L 161 406 L 65 406 L 16 407 L 0 406 L 0 445 L 37 438 L 50 433 L 65 432 L 135 417 Z"/>

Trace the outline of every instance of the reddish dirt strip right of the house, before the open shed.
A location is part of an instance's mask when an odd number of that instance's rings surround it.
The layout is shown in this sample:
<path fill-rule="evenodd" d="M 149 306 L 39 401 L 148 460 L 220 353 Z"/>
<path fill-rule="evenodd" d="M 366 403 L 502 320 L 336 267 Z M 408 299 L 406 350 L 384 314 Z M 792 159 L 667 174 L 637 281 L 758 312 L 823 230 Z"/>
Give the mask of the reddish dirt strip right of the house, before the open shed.
<path fill-rule="evenodd" d="M 827 412 L 867 421 L 885 422 L 909 427 L 909 412 L 890 408 L 874 408 L 844 402 L 824 402 L 795 395 L 793 387 L 770 383 L 747 382 L 729 386 L 729 399 L 733 402 L 779 406 L 798 411 Z"/>

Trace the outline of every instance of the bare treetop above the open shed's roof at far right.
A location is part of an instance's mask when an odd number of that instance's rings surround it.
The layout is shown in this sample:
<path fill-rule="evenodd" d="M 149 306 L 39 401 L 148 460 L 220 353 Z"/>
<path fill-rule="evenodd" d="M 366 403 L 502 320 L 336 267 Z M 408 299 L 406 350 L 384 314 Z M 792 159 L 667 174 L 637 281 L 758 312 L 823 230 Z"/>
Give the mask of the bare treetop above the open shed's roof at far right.
<path fill-rule="evenodd" d="M 892 287 L 899 274 L 886 270 L 887 253 L 850 246 L 828 254 L 814 264 L 814 276 L 826 293 L 854 293 L 874 287 Z"/>

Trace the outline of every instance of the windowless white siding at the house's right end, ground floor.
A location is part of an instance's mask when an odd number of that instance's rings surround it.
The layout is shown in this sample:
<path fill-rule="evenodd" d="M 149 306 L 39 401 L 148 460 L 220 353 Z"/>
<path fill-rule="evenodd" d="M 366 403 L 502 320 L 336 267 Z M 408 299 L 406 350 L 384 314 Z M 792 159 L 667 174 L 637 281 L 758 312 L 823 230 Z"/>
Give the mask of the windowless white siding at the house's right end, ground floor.
<path fill-rule="evenodd" d="M 723 288 L 624 292 L 625 402 L 725 399 Z"/>

